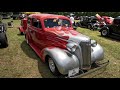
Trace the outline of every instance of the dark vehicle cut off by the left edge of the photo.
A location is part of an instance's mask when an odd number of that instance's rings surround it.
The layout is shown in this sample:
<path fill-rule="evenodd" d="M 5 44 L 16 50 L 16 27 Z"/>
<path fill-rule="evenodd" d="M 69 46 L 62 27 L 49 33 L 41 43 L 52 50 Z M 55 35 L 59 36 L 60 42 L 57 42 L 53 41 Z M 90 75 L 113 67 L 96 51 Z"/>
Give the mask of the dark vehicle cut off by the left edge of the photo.
<path fill-rule="evenodd" d="M 0 48 L 6 48 L 8 46 L 6 31 L 7 25 L 0 21 Z"/>

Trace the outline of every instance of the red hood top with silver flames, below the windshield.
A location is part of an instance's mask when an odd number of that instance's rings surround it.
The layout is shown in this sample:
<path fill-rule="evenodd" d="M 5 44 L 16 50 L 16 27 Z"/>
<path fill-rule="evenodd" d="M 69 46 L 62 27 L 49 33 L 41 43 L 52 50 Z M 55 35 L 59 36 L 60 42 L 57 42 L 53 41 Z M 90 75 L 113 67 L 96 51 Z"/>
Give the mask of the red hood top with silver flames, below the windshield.
<path fill-rule="evenodd" d="M 86 35 L 83 35 L 73 28 L 52 28 L 51 30 L 49 29 L 48 32 L 54 33 L 58 36 L 58 38 L 80 43 L 81 41 L 88 41 L 90 38 Z"/>

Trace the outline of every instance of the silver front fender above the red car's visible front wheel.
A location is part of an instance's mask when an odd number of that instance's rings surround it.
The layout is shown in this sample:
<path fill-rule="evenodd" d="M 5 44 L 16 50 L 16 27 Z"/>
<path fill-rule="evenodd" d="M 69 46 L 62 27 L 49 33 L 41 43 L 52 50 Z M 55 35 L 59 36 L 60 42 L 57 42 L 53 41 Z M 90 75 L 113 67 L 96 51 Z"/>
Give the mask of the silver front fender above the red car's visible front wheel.
<path fill-rule="evenodd" d="M 63 49 L 46 48 L 44 50 L 44 57 L 47 55 L 54 60 L 59 72 L 63 75 L 68 74 L 69 70 L 79 67 L 77 57 Z"/>

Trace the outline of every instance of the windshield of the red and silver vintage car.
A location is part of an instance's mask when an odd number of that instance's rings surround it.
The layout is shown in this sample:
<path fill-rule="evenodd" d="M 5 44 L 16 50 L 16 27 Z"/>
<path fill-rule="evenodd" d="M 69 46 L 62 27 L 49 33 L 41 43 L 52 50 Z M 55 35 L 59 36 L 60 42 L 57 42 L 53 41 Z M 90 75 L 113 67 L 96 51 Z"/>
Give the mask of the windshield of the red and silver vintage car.
<path fill-rule="evenodd" d="M 44 20 L 44 24 L 46 28 L 53 28 L 53 27 L 57 27 L 57 26 L 65 26 L 65 27 L 70 27 L 70 21 L 67 19 L 45 19 Z"/>

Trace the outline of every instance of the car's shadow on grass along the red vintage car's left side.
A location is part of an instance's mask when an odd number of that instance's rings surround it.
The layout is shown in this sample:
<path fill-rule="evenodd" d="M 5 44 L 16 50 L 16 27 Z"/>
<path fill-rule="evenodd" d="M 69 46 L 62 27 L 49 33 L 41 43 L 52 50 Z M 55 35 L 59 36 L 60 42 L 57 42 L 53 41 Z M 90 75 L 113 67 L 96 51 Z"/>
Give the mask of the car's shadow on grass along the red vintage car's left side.
<path fill-rule="evenodd" d="M 50 72 L 47 64 L 42 62 L 33 49 L 26 43 L 26 41 L 22 42 L 21 48 L 28 57 L 38 61 L 38 70 L 42 78 L 55 78 L 55 76 Z"/>

